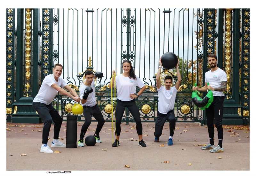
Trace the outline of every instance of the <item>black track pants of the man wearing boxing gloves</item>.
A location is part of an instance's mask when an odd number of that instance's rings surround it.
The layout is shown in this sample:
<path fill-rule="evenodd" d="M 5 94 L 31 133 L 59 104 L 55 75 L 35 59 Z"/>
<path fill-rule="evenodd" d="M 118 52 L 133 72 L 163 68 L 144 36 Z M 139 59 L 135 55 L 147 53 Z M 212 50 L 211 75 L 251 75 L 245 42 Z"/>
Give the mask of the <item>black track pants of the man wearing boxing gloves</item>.
<path fill-rule="evenodd" d="M 95 134 L 98 135 L 100 133 L 100 130 L 103 127 L 103 124 L 105 123 L 105 120 L 97 104 L 92 107 L 83 106 L 83 108 L 84 108 L 83 114 L 84 114 L 85 122 L 81 128 L 80 139 L 84 139 L 84 135 L 92 122 L 92 116 L 96 119 L 96 121 L 98 121 Z"/>

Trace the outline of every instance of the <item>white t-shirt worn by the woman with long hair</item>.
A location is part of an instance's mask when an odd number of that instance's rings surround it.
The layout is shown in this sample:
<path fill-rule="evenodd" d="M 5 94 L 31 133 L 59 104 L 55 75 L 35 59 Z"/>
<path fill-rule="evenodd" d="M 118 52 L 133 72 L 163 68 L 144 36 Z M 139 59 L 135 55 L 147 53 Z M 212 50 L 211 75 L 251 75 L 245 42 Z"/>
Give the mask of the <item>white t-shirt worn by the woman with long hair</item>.
<path fill-rule="evenodd" d="M 121 101 L 131 101 L 130 94 L 136 93 L 136 86 L 142 88 L 145 84 L 136 75 L 137 80 L 123 76 L 122 74 L 116 75 L 116 90 L 117 99 Z"/>

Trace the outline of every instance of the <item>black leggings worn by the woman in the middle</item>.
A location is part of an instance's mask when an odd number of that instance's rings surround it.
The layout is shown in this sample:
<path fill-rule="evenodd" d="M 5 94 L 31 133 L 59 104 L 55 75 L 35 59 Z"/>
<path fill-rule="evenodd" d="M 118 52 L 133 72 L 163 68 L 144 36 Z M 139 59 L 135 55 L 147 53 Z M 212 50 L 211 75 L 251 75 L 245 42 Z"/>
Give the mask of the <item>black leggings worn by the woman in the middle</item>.
<path fill-rule="evenodd" d="M 121 133 L 121 120 L 124 114 L 125 107 L 127 107 L 136 122 L 136 130 L 138 135 L 142 135 L 142 124 L 140 120 L 140 112 L 135 103 L 135 99 L 131 101 L 121 101 L 117 99 L 116 104 L 116 136 Z"/>

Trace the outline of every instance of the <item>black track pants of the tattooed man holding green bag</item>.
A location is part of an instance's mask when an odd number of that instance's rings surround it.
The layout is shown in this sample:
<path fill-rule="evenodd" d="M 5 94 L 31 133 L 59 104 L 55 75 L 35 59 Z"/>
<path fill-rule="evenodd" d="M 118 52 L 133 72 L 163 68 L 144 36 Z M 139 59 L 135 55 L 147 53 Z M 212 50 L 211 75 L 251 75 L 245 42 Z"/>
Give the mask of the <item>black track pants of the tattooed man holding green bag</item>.
<path fill-rule="evenodd" d="M 222 115 L 223 115 L 223 104 L 224 96 L 214 96 L 213 102 L 208 109 L 205 109 L 206 112 L 206 123 L 208 127 L 209 137 L 213 138 L 214 136 L 214 126 L 218 131 L 218 138 L 223 139 L 223 128 L 222 128 Z"/>

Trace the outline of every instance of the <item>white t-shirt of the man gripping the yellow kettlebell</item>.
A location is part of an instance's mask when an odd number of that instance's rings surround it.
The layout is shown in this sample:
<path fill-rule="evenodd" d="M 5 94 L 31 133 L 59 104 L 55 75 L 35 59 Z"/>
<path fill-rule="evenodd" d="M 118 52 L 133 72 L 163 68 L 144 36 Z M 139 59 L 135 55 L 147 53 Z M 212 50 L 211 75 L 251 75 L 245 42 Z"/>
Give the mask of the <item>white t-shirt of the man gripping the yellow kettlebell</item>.
<path fill-rule="evenodd" d="M 57 95 L 58 91 L 54 88 L 52 88 L 52 84 L 56 83 L 58 86 L 64 88 L 66 85 L 68 85 L 63 78 L 59 77 L 58 82 L 54 79 L 53 74 L 48 74 L 44 80 L 43 83 L 34 98 L 33 102 L 40 102 L 44 103 L 46 105 L 49 105 L 54 97 Z"/>

